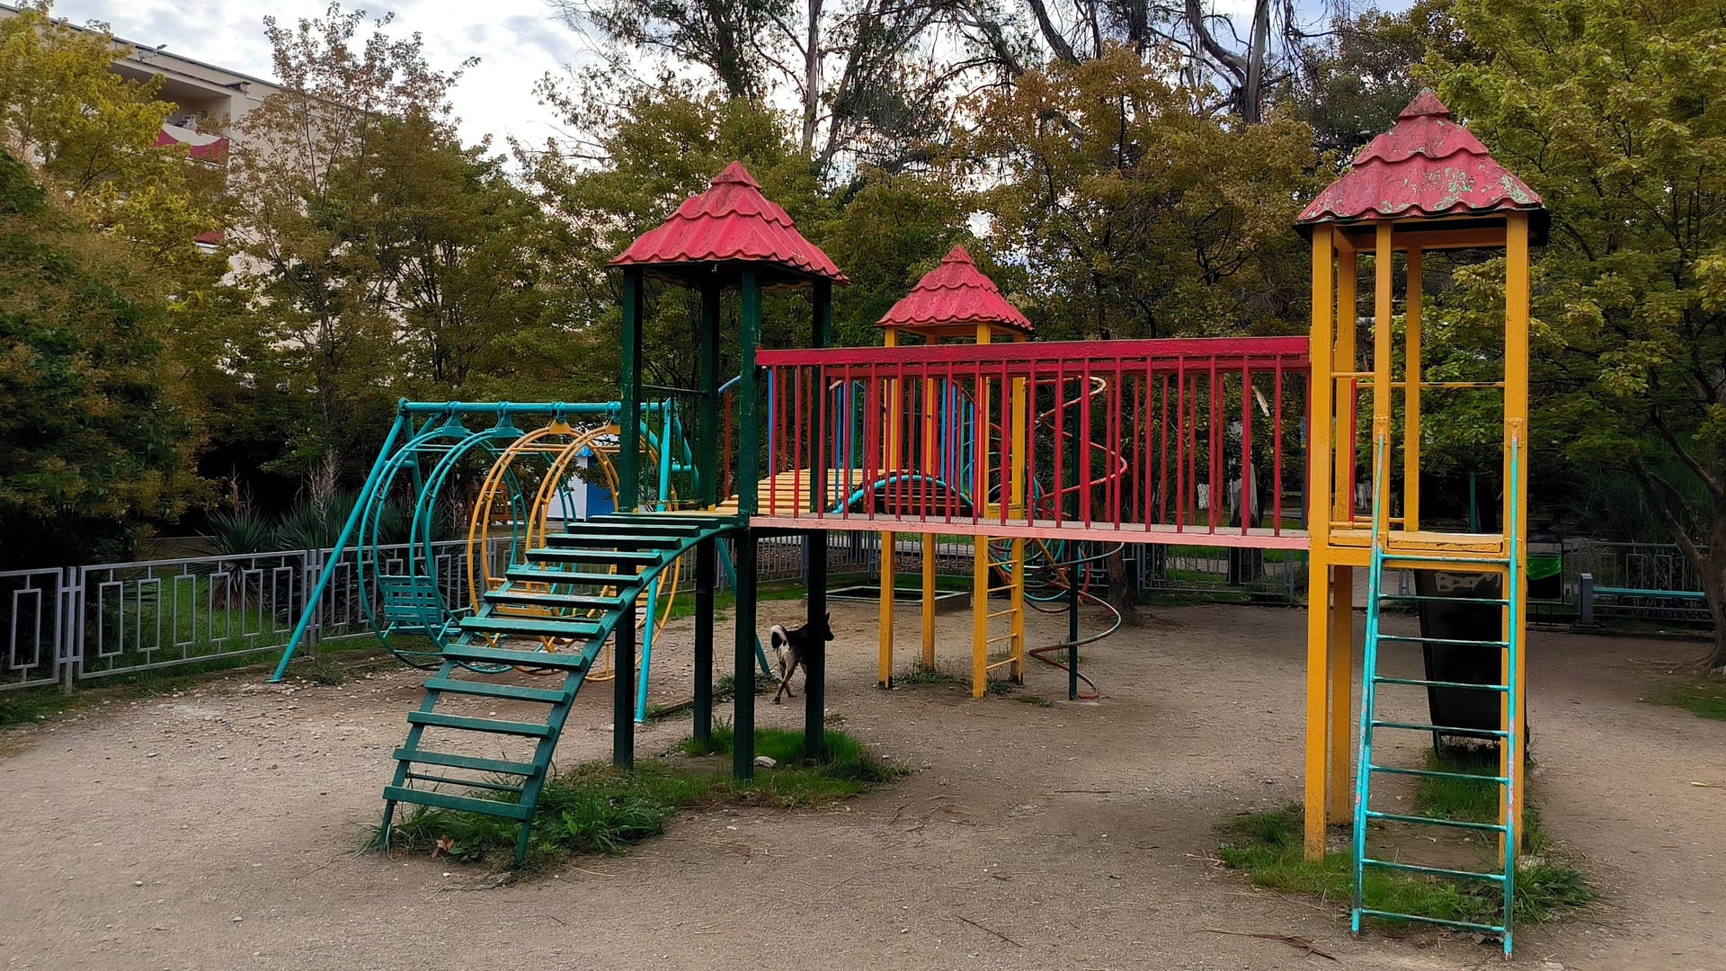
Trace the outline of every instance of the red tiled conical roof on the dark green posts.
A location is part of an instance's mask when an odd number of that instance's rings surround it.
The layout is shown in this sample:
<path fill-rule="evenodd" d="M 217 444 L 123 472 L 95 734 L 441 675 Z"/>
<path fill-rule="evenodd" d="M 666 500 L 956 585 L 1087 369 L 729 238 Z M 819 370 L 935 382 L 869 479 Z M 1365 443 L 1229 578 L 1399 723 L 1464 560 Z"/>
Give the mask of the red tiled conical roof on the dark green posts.
<path fill-rule="evenodd" d="M 678 206 L 658 228 L 635 237 L 611 266 L 768 263 L 806 276 L 846 282 L 822 247 L 803 238 L 791 216 L 761 195 L 761 183 L 742 162 L 725 166 L 711 185 Z"/>

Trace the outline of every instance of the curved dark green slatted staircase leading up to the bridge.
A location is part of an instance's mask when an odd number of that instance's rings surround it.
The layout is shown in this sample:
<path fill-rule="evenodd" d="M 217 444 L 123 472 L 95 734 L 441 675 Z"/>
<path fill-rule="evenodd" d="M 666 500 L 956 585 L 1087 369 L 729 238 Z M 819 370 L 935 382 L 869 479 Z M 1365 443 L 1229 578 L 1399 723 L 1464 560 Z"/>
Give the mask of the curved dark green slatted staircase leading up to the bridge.
<path fill-rule="evenodd" d="M 732 517 L 715 515 L 599 517 L 547 536 L 545 548 L 528 549 L 525 562 L 509 567 L 502 586 L 483 594 L 480 610 L 457 622 L 459 634 L 445 643 L 440 667 L 425 682 L 425 700 L 407 714 L 407 739 L 395 750 L 395 777 L 383 788 L 385 850 L 395 805 L 414 803 L 520 822 L 520 864 L 557 736 L 606 639 L 620 624 L 633 624 L 625 617 L 632 617 L 635 600 L 661 570 L 702 539 L 737 525 Z M 557 650 L 544 650 L 547 641 L 557 641 Z M 514 665 L 559 681 L 526 688 L 456 677 L 461 669 Z M 483 710 L 475 715 L 469 714 L 475 703 L 525 703 L 535 714 L 520 720 Z M 437 729 L 444 739 L 518 738 L 516 746 L 532 745 L 532 753 L 516 760 L 428 750 L 426 729 Z"/>

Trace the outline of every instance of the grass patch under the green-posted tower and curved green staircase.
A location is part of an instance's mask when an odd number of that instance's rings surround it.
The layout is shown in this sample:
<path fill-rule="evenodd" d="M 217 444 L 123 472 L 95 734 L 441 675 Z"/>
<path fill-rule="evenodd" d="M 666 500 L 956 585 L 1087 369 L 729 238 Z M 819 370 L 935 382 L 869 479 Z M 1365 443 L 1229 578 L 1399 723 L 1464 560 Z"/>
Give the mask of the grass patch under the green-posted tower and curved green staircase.
<path fill-rule="evenodd" d="M 644 758 L 633 771 L 589 762 L 549 779 L 528 843 L 528 869 L 545 867 L 582 854 L 623 854 L 635 843 L 665 833 L 682 810 L 716 805 L 766 805 L 797 809 L 837 802 L 906 774 L 870 755 L 861 743 L 841 731 L 828 731 L 820 762 L 804 764 L 803 734 L 758 729 L 756 755 L 778 762 L 756 769 L 754 779 L 734 781 L 730 726 L 715 726 L 708 743 L 689 738 L 673 752 L 690 758 Z M 507 864 L 516 848 L 518 828 L 507 819 L 414 807 L 390 835 L 394 848 L 432 850 L 449 840 L 447 852 L 461 860 Z M 373 829 L 368 847 L 381 833 Z"/>

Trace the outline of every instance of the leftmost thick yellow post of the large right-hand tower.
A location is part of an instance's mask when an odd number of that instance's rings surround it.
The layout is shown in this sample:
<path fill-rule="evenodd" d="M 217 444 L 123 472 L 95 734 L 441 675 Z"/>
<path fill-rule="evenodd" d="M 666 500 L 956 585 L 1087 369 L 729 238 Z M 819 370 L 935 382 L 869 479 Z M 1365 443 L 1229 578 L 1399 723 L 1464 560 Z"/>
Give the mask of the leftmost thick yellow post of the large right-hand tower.
<path fill-rule="evenodd" d="M 1307 428 L 1307 859 L 1324 855 L 1326 822 L 1326 719 L 1327 651 L 1331 632 L 1331 371 L 1334 261 L 1331 226 L 1313 226 L 1312 233 L 1312 378 L 1308 380 L 1310 415 Z"/>

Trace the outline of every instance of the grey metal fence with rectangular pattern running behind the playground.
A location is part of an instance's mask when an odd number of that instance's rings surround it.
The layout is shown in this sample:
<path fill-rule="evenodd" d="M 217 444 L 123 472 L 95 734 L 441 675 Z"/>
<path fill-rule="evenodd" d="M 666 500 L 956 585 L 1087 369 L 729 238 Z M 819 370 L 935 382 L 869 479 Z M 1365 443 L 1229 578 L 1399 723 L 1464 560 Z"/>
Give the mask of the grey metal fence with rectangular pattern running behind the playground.
<path fill-rule="evenodd" d="M 830 532 L 828 572 L 834 579 L 880 570 L 884 534 Z M 383 568 L 400 570 L 406 546 L 385 548 Z M 333 551 L 292 549 L 242 556 L 185 556 L 136 563 L 0 572 L 0 691 L 31 686 L 74 686 L 119 674 L 167 669 L 216 658 L 280 653 L 306 610 L 306 598 Z M 507 539 L 485 548 L 494 575 L 507 556 Z M 937 572 L 968 575 L 973 544 L 941 537 Z M 898 534 L 894 560 L 901 574 L 922 565 L 922 543 Z M 1305 596 L 1307 556 L 1300 551 L 1231 551 L 1205 546 L 1127 546 L 1129 589 L 1153 594 L 1201 594 L 1298 605 Z M 692 563 L 685 565 L 692 575 Z M 469 603 L 466 541 L 433 546 L 433 572 L 449 605 Z M 1671 544 L 1564 543 L 1564 596 L 1576 603 L 1581 574 L 1597 587 L 1700 591 L 1690 562 Z M 803 537 L 761 539 L 759 579 L 804 577 Z M 720 586 L 730 586 L 725 574 Z M 687 589 L 687 584 L 685 584 Z M 307 646 L 319 641 L 371 636 L 366 598 L 343 556 L 318 605 Z M 1548 608 L 1552 603 L 1546 605 Z M 1645 615 L 1707 620 L 1697 601 L 1610 598 L 1602 615 Z"/>

